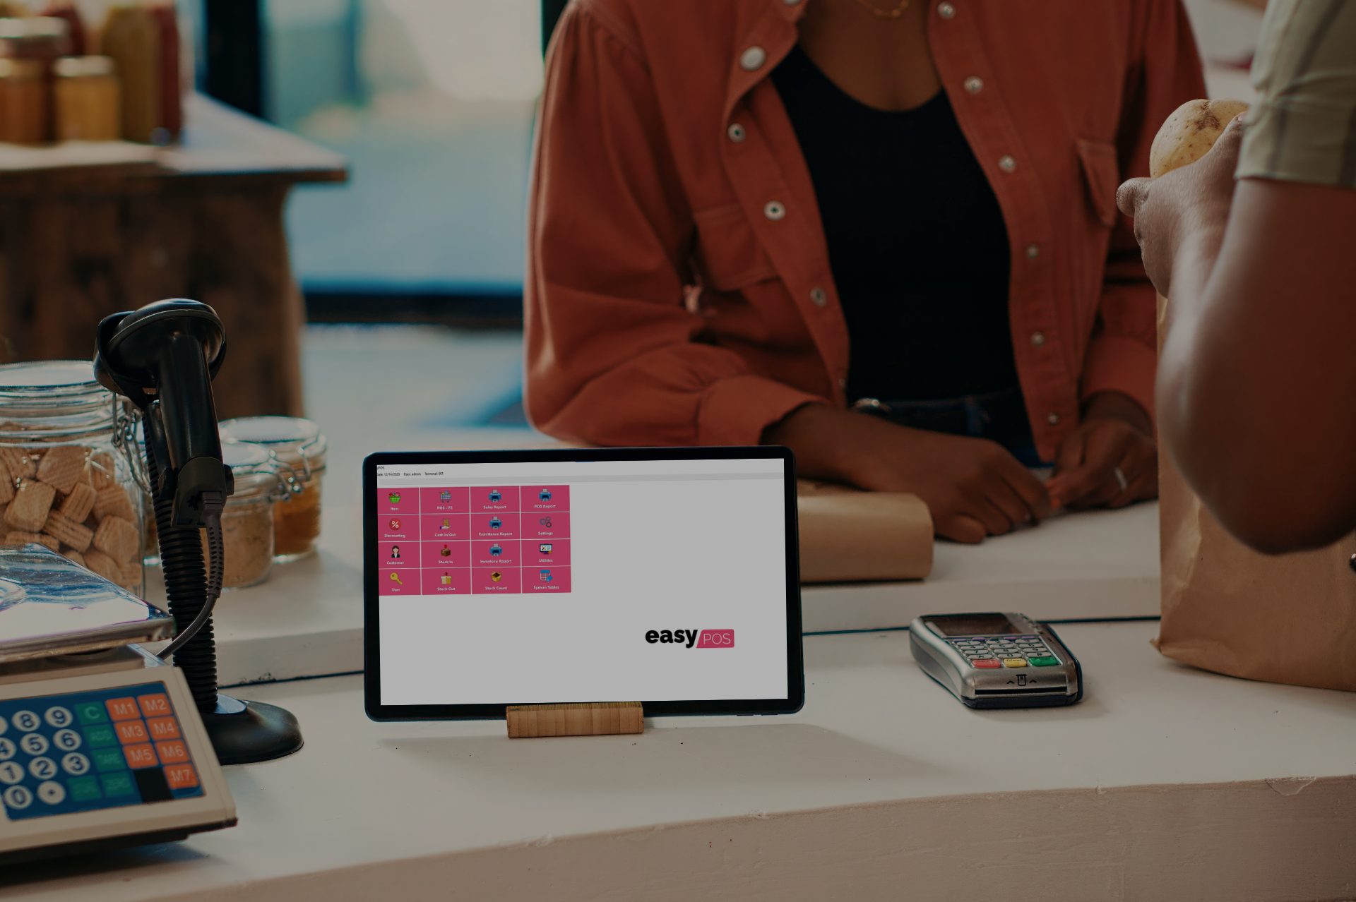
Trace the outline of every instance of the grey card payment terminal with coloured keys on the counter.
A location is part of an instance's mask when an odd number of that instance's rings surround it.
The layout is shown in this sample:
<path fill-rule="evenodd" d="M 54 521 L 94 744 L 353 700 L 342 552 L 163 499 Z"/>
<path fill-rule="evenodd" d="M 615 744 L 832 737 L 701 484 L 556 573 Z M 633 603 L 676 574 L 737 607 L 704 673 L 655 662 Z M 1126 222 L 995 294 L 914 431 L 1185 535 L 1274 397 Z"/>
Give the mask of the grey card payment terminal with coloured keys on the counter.
<path fill-rule="evenodd" d="M 1083 697 L 1082 668 L 1055 631 L 1022 614 L 928 614 L 909 624 L 914 660 L 971 708 Z"/>

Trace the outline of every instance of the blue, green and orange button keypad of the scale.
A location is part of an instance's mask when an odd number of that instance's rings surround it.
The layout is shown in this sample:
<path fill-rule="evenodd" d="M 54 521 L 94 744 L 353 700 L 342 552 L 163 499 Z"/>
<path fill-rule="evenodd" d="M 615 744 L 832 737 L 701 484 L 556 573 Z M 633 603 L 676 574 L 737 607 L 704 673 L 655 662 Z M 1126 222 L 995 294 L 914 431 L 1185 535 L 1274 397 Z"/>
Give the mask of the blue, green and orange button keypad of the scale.
<path fill-rule="evenodd" d="M 202 794 L 163 683 L 0 700 L 0 809 L 11 821 Z"/>

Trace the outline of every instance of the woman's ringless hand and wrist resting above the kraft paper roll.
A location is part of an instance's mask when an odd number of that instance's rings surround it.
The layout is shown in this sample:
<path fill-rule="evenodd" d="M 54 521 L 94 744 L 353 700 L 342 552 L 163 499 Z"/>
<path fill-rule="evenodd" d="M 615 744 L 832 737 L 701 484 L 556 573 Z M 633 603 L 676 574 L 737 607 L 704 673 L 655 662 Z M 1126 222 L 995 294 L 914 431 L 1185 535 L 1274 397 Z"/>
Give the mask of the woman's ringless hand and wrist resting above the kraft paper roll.
<path fill-rule="evenodd" d="M 814 404 L 770 427 L 763 442 L 795 451 L 803 475 L 917 494 L 937 535 L 956 542 L 983 542 L 1051 511 L 1040 479 L 987 439 L 909 429 Z"/>

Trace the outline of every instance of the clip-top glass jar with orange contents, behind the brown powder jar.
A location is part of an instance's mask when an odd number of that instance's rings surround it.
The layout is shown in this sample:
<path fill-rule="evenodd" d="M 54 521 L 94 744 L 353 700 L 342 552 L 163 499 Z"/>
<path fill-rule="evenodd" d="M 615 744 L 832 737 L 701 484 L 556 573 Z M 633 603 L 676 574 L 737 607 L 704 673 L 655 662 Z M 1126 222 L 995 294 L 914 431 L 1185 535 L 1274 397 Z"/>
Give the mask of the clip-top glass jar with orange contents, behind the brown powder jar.
<path fill-rule="evenodd" d="M 320 482 L 330 448 L 320 427 L 300 417 L 240 417 L 222 421 L 221 437 L 263 446 L 283 465 L 292 500 L 273 508 L 274 559 L 297 561 L 315 554 L 320 538 Z"/>

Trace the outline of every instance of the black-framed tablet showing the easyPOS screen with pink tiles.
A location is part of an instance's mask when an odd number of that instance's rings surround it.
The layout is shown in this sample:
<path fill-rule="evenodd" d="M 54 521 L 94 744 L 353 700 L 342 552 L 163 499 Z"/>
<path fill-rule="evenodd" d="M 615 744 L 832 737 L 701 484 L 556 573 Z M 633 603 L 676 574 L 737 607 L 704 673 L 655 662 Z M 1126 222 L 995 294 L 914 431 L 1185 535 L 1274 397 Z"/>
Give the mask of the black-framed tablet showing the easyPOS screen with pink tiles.
<path fill-rule="evenodd" d="M 363 599 L 376 721 L 804 703 L 786 448 L 374 454 Z"/>

